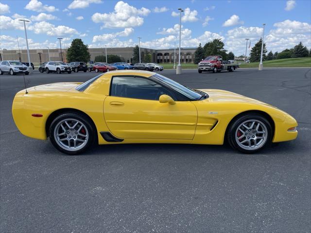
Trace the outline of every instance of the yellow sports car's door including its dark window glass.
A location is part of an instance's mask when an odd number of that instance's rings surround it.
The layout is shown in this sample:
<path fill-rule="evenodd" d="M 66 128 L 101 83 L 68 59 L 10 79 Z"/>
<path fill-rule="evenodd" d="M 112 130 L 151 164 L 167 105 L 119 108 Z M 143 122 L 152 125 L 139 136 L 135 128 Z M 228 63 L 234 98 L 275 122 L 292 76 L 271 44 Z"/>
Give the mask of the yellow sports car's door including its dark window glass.
<path fill-rule="evenodd" d="M 176 93 L 137 76 L 115 76 L 104 100 L 104 119 L 111 133 L 120 138 L 192 140 L 197 122 L 196 107 L 178 101 Z M 170 95 L 175 104 L 160 103 Z"/>

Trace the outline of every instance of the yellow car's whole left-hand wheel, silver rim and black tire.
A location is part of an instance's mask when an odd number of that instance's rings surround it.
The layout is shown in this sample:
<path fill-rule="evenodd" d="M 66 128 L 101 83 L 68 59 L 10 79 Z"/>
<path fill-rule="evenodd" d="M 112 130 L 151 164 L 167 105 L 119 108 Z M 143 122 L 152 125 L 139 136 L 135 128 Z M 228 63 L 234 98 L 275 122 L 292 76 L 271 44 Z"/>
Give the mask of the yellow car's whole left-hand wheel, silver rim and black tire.
<path fill-rule="evenodd" d="M 89 148 L 96 138 L 91 122 L 80 114 L 64 113 L 57 116 L 49 129 L 53 146 L 67 154 L 78 154 Z"/>

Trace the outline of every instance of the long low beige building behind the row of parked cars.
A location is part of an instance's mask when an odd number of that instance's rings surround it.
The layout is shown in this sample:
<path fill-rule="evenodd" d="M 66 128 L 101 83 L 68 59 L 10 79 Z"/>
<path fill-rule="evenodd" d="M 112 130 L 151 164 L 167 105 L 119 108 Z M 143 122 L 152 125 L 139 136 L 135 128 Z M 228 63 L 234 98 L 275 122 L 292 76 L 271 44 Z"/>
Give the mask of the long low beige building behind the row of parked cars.
<path fill-rule="evenodd" d="M 123 62 L 133 62 L 133 50 L 134 47 L 126 48 L 107 48 L 107 54 L 118 55 Z M 196 48 L 181 48 L 181 63 L 193 63 L 194 51 Z M 41 50 L 29 50 L 30 61 L 33 63 L 41 63 L 49 61 L 49 52 L 51 61 L 61 61 L 60 49 L 41 49 Z M 66 61 L 67 49 L 62 49 L 63 60 Z M 144 55 L 150 53 L 152 55 L 152 62 L 155 63 L 174 63 L 174 49 L 167 50 L 154 50 L 141 48 L 141 62 Z M 95 60 L 96 56 L 105 55 L 105 48 L 90 48 L 89 53 L 91 55 L 91 61 Z M 178 48 L 176 48 L 176 64 L 178 64 Z M 0 50 L 0 61 L 3 60 L 20 60 L 22 62 L 28 62 L 27 50 Z"/>

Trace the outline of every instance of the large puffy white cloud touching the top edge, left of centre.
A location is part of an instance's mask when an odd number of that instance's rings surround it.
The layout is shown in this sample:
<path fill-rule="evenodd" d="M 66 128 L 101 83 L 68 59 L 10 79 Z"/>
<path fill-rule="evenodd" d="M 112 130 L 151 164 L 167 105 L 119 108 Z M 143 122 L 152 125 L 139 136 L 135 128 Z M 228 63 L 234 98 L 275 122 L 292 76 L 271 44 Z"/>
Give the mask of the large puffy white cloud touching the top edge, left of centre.
<path fill-rule="evenodd" d="M 147 16 L 150 10 L 147 8 L 137 9 L 126 2 L 118 1 L 114 12 L 108 14 L 95 13 L 92 20 L 95 23 L 104 23 L 104 28 L 129 28 L 141 26 L 144 19 L 140 16 Z"/>

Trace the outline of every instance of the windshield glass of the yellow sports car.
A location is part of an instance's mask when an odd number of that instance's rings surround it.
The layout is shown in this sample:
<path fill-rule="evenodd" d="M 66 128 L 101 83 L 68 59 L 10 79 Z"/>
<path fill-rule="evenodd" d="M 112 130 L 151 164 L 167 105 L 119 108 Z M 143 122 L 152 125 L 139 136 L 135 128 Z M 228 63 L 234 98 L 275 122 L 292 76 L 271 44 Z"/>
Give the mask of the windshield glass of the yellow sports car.
<path fill-rule="evenodd" d="M 176 83 L 175 81 L 169 79 L 169 78 L 166 78 L 160 74 L 155 74 L 153 76 L 155 78 L 155 80 L 159 81 L 160 83 L 164 83 L 168 86 L 170 86 L 173 90 L 177 91 L 178 93 L 181 93 L 182 95 L 188 97 L 190 100 L 200 100 L 202 95 L 195 92 L 194 90 L 182 85 L 182 84 L 179 84 L 179 83 Z"/>

